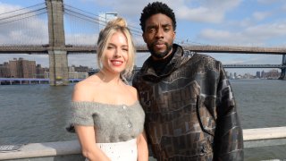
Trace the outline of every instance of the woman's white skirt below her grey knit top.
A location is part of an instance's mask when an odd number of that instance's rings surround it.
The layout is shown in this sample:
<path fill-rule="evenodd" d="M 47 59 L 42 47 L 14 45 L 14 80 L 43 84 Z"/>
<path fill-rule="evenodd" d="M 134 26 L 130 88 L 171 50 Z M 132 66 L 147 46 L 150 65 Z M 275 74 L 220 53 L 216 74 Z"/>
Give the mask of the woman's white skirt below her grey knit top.
<path fill-rule="evenodd" d="M 136 139 L 123 142 L 97 143 L 97 147 L 105 152 L 105 155 L 112 161 L 136 161 L 138 157 Z"/>

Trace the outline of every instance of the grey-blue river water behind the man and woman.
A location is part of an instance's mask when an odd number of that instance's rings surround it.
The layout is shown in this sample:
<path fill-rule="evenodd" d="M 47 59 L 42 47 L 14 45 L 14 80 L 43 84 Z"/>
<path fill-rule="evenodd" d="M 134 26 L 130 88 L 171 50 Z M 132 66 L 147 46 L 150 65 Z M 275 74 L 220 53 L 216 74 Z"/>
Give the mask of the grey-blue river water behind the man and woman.
<path fill-rule="evenodd" d="M 243 129 L 286 126 L 285 80 L 231 80 Z M 65 131 L 73 85 L 0 85 L 0 145 L 76 140 Z M 245 160 L 286 159 L 286 145 L 245 148 Z"/>

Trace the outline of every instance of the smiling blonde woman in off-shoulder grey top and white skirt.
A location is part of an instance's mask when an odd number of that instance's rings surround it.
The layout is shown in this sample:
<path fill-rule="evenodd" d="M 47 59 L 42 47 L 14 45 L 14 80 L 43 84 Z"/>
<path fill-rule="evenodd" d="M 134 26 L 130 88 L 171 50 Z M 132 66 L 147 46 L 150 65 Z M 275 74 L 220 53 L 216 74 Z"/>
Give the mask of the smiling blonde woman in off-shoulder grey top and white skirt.
<path fill-rule="evenodd" d="M 88 160 L 147 160 L 145 114 L 131 74 L 135 47 L 122 18 L 107 23 L 97 40 L 100 71 L 74 87 L 69 121 Z"/>

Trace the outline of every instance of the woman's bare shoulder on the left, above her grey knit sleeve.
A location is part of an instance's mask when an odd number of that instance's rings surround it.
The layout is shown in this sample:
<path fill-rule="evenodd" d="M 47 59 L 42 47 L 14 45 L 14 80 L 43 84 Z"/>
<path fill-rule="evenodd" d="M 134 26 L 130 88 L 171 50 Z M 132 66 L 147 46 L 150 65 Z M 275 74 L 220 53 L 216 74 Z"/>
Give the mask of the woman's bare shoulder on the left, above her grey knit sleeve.
<path fill-rule="evenodd" d="M 97 78 L 88 77 L 78 82 L 72 93 L 72 101 L 92 101 L 97 86 Z"/>

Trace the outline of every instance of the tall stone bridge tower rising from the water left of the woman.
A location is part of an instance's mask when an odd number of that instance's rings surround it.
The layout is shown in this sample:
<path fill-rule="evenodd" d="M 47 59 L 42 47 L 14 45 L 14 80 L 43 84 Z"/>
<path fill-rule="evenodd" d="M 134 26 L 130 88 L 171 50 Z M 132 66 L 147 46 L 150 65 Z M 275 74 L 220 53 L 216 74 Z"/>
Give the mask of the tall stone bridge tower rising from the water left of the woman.
<path fill-rule="evenodd" d="M 63 0 L 46 0 L 50 85 L 68 85 L 68 58 L 63 30 Z"/>

